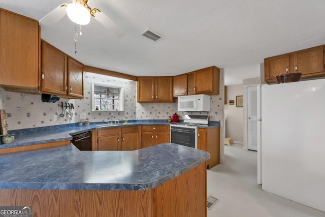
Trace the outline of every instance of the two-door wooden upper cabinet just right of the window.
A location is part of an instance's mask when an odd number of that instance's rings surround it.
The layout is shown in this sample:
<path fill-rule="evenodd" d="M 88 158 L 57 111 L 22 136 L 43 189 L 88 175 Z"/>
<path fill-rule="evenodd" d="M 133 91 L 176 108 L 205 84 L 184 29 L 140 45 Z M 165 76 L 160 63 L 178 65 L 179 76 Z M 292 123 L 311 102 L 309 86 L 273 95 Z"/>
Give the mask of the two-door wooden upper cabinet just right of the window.
<path fill-rule="evenodd" d="M 173 77 L 138 77 L 138 102 L 173 102 Z"/>

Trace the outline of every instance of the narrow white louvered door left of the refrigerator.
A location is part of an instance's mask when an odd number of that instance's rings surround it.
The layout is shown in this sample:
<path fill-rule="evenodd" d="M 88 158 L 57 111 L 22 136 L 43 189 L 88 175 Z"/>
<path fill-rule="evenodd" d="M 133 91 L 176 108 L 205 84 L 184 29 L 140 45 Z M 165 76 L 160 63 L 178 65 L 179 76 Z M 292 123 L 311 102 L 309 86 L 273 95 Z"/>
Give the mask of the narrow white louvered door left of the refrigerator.
<path fill-rule="evenodd" d="M 247 147 L 257 151 L 257 86 L 247 86 Z"/>

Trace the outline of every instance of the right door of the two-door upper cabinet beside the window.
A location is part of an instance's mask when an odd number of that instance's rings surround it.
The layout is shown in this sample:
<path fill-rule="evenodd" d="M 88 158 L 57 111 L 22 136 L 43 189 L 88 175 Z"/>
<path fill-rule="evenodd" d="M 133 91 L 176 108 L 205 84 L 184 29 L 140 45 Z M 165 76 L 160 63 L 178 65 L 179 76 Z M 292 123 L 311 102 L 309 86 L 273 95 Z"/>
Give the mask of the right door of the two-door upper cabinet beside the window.
<path fill-rule="evenodd" d="M 173 102 L 173 77 L 155 77 L 155 101 Z"/>

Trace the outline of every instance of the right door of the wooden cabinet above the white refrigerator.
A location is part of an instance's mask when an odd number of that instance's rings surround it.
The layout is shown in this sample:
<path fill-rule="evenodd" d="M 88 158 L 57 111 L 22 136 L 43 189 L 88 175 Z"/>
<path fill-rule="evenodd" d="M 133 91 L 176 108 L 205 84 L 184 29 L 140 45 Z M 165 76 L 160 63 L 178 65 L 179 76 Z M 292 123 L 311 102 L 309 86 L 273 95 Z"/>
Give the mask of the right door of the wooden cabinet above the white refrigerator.
<path fill-rule="evenodd" d="M 323 72 L 323 59 L 323 46 L 297 51 L 295 52 L 296 64 L 290 66 L 290 68 L 293 68 L 290 72 L 300 72 L 303 76 Z"/>

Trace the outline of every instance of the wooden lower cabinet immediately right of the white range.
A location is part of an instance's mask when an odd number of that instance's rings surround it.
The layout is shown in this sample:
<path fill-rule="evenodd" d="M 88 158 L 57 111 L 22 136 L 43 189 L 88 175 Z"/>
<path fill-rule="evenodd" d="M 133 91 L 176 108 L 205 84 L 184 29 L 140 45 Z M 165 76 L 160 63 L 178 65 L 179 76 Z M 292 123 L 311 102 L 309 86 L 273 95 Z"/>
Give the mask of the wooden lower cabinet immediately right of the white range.
<path fill-rule="evenodd" d="M 207 169 L 211 169 L 220 162 L 220 128 L 199 128 L 198 149 L 210 152 Z"/>

